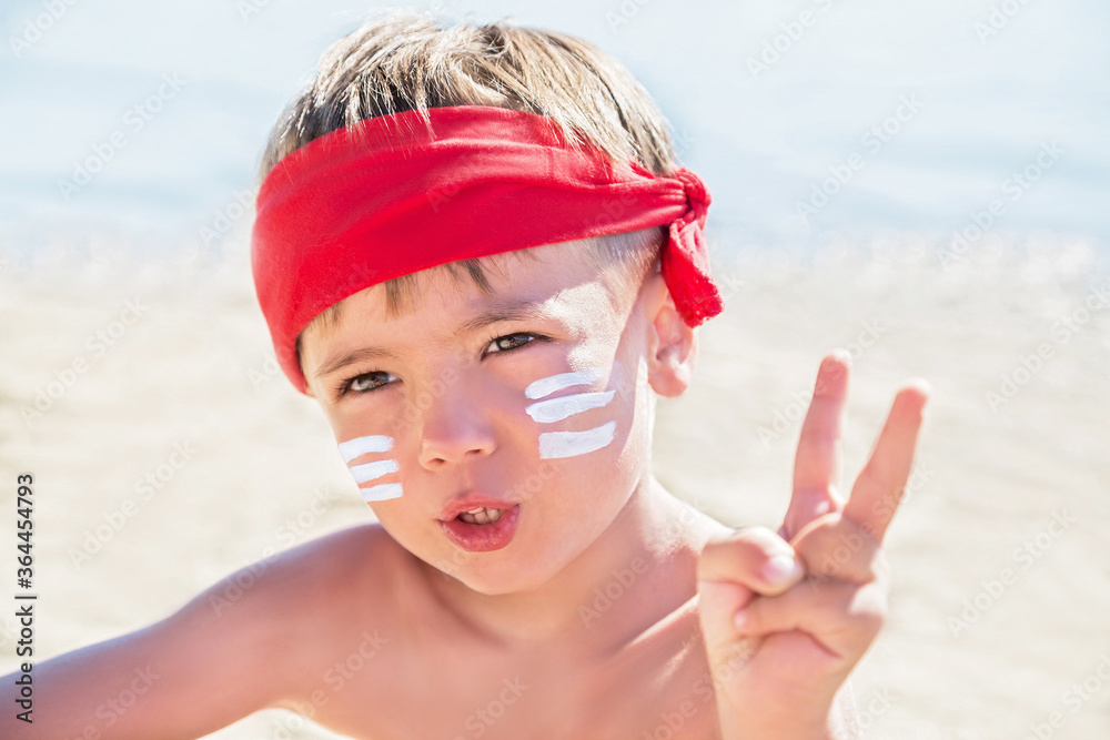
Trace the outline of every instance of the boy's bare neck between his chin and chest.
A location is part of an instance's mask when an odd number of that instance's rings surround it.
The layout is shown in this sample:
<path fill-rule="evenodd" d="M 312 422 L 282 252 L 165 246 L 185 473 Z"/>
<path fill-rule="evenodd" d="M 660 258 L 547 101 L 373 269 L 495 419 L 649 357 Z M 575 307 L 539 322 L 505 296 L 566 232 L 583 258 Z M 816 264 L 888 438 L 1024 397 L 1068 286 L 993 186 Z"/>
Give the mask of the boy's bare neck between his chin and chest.
<path fill-rule="evenodd" d="M 604 656 L 690 602 L 697 556 L 724 529 L 648 474 L 608 528 L 537 589 L 490 596 L 424 570 L 444 602 L 492 639 Z"/>

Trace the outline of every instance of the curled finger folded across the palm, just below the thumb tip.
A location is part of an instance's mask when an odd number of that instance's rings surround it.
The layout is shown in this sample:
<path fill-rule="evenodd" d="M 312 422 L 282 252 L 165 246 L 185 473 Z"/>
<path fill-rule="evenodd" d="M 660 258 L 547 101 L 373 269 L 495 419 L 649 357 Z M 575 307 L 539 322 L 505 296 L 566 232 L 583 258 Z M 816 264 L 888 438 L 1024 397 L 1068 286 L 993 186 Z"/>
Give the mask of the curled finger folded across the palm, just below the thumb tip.
<path fill-rule="evenodd" d="M 834 581 L 819 589 L 798 584 L 780 596 L 754 599 L 734 624 L 748 638 L 799 630 L 834 656 L 856 660 L 875 640 L 886 615 L 884 585 Z"/>

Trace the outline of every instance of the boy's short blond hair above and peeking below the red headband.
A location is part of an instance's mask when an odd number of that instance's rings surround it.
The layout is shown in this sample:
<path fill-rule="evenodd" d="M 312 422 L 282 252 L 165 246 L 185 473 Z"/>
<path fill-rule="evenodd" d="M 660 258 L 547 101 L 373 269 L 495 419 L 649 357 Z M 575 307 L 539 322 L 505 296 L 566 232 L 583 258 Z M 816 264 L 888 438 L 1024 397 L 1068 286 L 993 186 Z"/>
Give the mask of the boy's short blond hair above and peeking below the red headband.
<path fill-rule="evenodd" d="M 360 121 L 430 108 L 495 105 L 544 115 L 572 146 L 592 144 L 614 161 L 635 161 L 656 175 L 677 166 L 669 123 L 647 91 L 616 60 L 575 37 L 496 21 L 445 27 L 430 13 L 391 10 L 329 47 L 316 75 L 289 104 L 266 143 L 260 176 L 310 141 Z M 622 288 L 638 287 L 658 267 L 664 227 L 583 240 L 598 272 L 619 266 Z M 528 250 L 514 252 L 532 256 Z M 481 260 L 462 265 L 490 293 Z M 386 306 L 415 296 L 414 275 L 387 281 Z M 333 324 L 342 302 L 317 315 Z M 302 332 L 303 334 L 303 332 Z M 300 337 L 297 338 L 300 354 Z"/>

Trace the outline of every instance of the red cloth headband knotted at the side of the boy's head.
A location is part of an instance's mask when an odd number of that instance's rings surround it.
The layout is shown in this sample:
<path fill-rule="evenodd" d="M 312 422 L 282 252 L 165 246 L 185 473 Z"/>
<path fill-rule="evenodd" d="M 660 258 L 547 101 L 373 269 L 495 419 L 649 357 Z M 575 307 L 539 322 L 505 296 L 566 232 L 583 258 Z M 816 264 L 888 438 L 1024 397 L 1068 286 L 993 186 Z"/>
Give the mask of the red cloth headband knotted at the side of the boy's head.
<path fill-rule="evenodd" d="M 669 224 L 663 276 L 690 326 L 722 311 L 702 230 L 709 193 L 568 148 L 554 122 L 485 105 L 367 119 L 282 159 L 259 190 L 251 262 L 282 369 L 296 337 L 359 291 L 456 260 Z"/>

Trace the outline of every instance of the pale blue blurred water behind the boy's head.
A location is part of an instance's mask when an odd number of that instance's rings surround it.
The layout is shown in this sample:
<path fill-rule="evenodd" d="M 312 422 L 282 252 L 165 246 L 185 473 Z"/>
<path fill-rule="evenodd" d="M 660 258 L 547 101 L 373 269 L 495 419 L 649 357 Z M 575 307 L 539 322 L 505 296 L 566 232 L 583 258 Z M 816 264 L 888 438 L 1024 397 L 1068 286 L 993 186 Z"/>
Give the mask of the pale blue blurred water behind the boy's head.
<path fill-rule="evenodd" d="M 370 9 L 6 0 L 0 249 L 219 260 L 249 227 L 236 204 L 269 128 Z M 978 221 L 1010 244 L 1048 232 L 1110 252 L 1104 2 L 435 9 L 571 32 L 624 62 L 708 183 L 724 249 L 814 253 L 891 232 L 944 244 Z"/>

